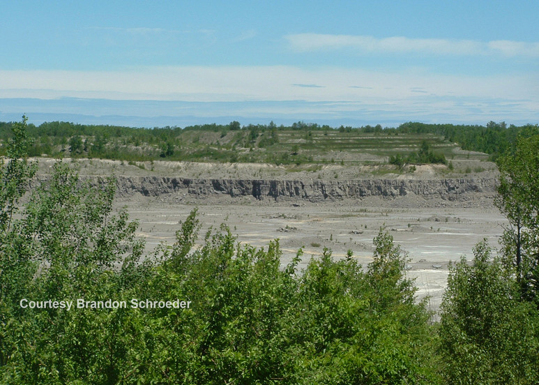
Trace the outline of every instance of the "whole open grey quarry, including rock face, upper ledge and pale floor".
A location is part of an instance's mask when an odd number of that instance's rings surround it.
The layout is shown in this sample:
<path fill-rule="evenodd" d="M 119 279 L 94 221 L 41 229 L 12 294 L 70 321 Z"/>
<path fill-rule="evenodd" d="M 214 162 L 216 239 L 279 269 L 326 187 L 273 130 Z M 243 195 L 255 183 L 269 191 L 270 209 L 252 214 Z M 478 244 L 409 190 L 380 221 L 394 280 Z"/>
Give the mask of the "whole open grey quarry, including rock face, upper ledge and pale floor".
<path fill-rule="evenodd" d="M 56 160 L 38 161 L 33 183 L 47 179 Z M 324 248 L 335 259 L 351 250 L 367 266 L 372 240 L 383 227 L 409 257 L 407 274 L 416 280 L 418 299 L 429 297 L 434 311 L 446 287 L 448 264 L 463 256 L 471 259 L 473 246 L 483 239 L 499 247 L 506 225 L 494 206 L 495 166 L 477 160 L 483 172 L 444 174 L 437 165 L 420 165 L 413 173 L 383 175 L 365 166 L 291 172 L 267 164 L 63 161 L 92 183 L 114 176 L 115 204 L 127 206 L 130 219 L 139 221 L 137 236 L 148 252 L 174 243 L 179 223 L 195 208 L 201 243 L 208 229 L 225 223 L 239 243 L 267 248 L 279 239 L 283 268 L 301 248 L 300 270 Z"/>

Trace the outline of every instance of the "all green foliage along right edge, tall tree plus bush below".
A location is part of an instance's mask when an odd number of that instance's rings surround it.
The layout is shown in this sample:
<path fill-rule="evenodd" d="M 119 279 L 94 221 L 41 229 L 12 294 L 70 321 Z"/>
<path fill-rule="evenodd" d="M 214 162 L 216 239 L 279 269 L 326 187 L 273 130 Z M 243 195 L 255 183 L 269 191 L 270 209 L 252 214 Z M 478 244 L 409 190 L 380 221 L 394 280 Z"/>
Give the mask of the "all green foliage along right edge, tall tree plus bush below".
<path fill-rule="evenodd" d="M 499 158 L 501 256 L 483 241 L 472 264 L 450 266 L 439 329 L 448 384 L 539 382 L 538 149 L 539 135 L 523 133 Z"/>

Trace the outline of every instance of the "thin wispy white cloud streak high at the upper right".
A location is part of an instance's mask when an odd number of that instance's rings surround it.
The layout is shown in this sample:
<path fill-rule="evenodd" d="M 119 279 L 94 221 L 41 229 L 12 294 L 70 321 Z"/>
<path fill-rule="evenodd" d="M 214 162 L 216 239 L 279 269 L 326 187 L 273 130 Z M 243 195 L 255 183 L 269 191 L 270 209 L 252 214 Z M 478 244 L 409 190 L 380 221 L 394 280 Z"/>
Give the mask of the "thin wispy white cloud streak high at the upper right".
<path fill-rule="evenodd" d="M 513 40 L 423 39 L 393 36 L 374 38 L 360 35 L 298 33 L 287 35 L 289 47 L 298 52 L 351 49 L 360 52 L 424 53 L 438 55 L 539 56 L 539 43 Z"/>

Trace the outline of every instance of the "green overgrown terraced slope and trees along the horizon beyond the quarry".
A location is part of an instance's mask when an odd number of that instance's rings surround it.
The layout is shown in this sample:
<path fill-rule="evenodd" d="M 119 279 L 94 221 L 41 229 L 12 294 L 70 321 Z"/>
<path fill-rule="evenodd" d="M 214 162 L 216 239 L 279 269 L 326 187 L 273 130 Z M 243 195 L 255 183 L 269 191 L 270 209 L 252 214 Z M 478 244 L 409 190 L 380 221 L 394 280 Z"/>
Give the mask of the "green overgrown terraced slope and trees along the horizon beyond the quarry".
<path fill-rule="evenodd" d="M 11 127 L 17 123 L 0 122 L 0 156 L 6 154 Z M 404 163 L 445 163 L 457 144 L 462 149 L 488 153 L 492 160 L 506 152 L 514 152 L 518 135 L 531 137 L 539 134 L 538 126 L 506 126 L 489 122 L 485 126 L 452 124 L 403 123 L 397 128 L 377 126 L 340 126 L 331 128 L 317 123 L 298 121 L 290 126 L 270 122 L 241 126 L 229 124 L 202 124 L 179 128 L 134 128 L 106 125 L 84 125 L 60 121 L 27 126 L 33 144 L 30 156 L 107 158 L 125 161 L 187 160 L 202 162 L 247 162 L 301 164 L 329 163 L 332 151 L 368 151 L 388 156 L 390 163 L 402 167 Z M 331 133 L 331 135 L 329 135 Z M 436 152 L 419 151 L 409 154 L 393 153 L 395 139 L 402 146 L 420 147 L 423 140 L 436 146 Z M 298 140 L 301 156 L 289 156 Z M 181 149 L 182 151 L 179 151 Z M 451 153 L 454 155 L 454 153 Z"/>

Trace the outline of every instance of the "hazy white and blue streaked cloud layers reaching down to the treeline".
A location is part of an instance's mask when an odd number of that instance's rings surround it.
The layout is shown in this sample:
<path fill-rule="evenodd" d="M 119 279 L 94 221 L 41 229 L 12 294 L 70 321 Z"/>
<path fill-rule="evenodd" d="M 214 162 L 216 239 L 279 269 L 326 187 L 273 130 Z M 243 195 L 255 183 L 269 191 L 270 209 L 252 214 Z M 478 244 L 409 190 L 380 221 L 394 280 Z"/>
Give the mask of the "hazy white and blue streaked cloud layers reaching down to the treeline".
<path fill-rule="evenodd" d="M 198 107 L 177 109 L 184 108 L 185 103 L 203 103 L 201 106 L 207 107 L 204 116 L 210 121 L 211 116 L 226 113 L 227 116 L 271 119 L 288 116 L 287 119 L 312 121 L 367 119 L 364 120 L 367 123 L 379 122 L 381 116 L 401 122 L 505 120 L 533 123 L 538 119 L 539 75 L 464 76 L 341 67 L 308 70 L 293 66 L 146 67 L 130 71 L 0 70 L 0 99 L 49 99 L 47 103 L 59 100 L 54 111 L 49 109 L 50 105 L 44 105 L 40 112 L 60 113 L 65 105 L 61 98 L 65 97 L 103 99 L 110 103 L 130 101 L 126 106 L 146 106 L 145 110 L 141 110 L 142 107 L 129 110 L 135 112 L 127 112 L 128 107 L 109 111 L 104 103 L 102 112 L 95 110 L 91 103 L 81 102 L 80 108 L 86 105 L 87 114 L 155 116 L 170 111 L 174 116 L 198 116 Z M 146 104 L 137 104 L 142 102 Z M 233 110 L 231 105 L 234 105 Z M 3 113 L 8 112 L 5 102 L 2 101 L 1 106 Z M 155 110 L 155 106 L 161 106 L 162 111 Z M 173 111 L 172 106 L 176 106 L 176 110 Z M 12 110 L 17 114 L 36 111 L 32 108 L 16 110 L 13 107 Z M 77 110 L 80 112 L 82 110 Z"/>

